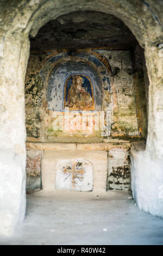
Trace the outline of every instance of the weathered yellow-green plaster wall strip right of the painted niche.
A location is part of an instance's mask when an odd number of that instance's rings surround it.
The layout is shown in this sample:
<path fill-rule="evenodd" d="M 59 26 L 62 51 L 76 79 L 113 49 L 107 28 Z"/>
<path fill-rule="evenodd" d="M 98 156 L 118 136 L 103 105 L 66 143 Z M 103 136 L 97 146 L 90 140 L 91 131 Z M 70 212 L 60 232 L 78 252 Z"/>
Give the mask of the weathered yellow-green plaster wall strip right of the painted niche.
<path fill-rule="evenodd" d="M 125 50 L 100 50 L 99 52 L 109 59 L 113 76 L 112 87 L 115 88 L 117 97 L 117 113 L 115 111 L 116 118 L 111 126 L 111 136 L 140 136 L 141 124 L 137 112 L 141 112 L 141 109 L 137 104 L 137 84 L 133 76 L 131 52 Z"/>

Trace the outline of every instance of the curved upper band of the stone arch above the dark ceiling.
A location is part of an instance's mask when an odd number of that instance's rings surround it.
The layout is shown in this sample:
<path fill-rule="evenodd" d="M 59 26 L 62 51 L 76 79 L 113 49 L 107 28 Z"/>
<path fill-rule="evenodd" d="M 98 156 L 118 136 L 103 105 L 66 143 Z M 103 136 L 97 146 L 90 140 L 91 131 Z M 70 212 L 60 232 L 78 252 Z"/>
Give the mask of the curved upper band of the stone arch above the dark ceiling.
<path fill-rule="evenodd" d="M 48 21 L 57 19 L 61 15 L 66 15 L 73 11 L 80 10 L 92 10 L 101 11 L 103 13 L 108 13 L 115 15 L 121 19 L 133 32 L 136 39 L 140 42 L 140 45 L 145 46 L 145 38 L 148 39 L 149 33 L 149 23 L 153 25 L 153 28 L 160 26 L 160 21 L 158 17 L 153 15 L 150 7 L 147 8 L 148 11 L 148 24 L 143 19 L 143 14 L 140 15 L 140 9 L 145 11 L 146 3 L 139 2 L 136 4 L 125 0 L 123 3 L 117 2 L 115 0 L 111 1 L 80 1 L 76 3 L 71 3 L 68 1 L 51 1 L 45 0 L 36 5 L 36 8 L 32 11 L 29 16 L 28 23 L 25 28 L 25 33 L 30 33 L 35 36 L 39 29 L 45 25 Z M 147 5 L 146 5 L 147 6 Z M 142 11 L 143 13 L 143 11 Z M 156 34 L 156 32 L 153 32 Z M 153 37 L 154 38 L 154 37 Z"/>

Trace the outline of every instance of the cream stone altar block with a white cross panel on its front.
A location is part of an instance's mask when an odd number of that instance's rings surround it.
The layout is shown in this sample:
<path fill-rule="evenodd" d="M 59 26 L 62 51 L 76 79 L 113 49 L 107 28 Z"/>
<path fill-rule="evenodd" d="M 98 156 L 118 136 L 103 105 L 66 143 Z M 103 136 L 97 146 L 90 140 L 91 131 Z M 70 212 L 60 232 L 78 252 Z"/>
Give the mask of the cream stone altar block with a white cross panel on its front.
<path fill-rule="evenodd" d="M 45 150 L 42 188 L 46 191 L 106 191 L 108 154 L 105 151 Z"/>

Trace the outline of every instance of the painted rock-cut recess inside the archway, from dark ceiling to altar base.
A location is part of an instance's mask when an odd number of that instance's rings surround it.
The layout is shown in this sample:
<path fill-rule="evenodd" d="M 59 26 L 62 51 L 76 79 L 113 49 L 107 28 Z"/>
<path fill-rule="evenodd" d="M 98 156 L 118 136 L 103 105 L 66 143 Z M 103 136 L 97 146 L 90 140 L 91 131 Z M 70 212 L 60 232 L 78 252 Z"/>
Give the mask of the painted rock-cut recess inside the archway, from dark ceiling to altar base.
<path fill-rule="evenodd" d="M 129 191 L 148 84 L 143 49 L 115 16 L 78 11 L 40 28 L 25 81 L 27 190 Z"/>

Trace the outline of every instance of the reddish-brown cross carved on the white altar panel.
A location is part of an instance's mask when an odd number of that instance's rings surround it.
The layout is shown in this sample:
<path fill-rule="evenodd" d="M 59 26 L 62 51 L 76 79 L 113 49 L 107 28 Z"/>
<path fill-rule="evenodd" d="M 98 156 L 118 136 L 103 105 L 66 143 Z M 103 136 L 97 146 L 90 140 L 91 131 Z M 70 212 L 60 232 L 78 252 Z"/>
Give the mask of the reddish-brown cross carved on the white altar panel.
<path fill-rule="evenodd" d="M 71 175 L 71 179 L 72 179 L 72 187 L 75 187 L 75 179 L 82 179 L 82 175 L 85 173 L 85 170 L 83 168 L 79 167 L 82 165 L 82 163 L 79 163 L 78 160 L 72 160 L 70 161 L 71 166 L 68 167 L 64 167 L 64 169 L 62 170 L 62 172 L 64 172 L 65 174 L 70 174 Z"/>

